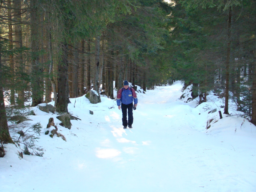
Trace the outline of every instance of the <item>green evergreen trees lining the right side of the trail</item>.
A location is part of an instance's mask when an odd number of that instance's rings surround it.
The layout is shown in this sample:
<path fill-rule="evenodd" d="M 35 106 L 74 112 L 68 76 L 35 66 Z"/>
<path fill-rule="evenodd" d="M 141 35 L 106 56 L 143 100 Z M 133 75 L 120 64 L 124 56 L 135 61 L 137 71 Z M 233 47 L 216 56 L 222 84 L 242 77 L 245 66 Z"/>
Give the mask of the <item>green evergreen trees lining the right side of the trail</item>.
<path fill-rule="evenodd" d="M 202 101 L 215 89 L 220 96 L 226 95 L 228 103 L 231 91 L 238 109 L 251 119 L 255 1 L 174 2 L 169 47 L 174 54 L 172 67 L 185 84 L 193 84 L 193 94 L 201 95 Z"/>

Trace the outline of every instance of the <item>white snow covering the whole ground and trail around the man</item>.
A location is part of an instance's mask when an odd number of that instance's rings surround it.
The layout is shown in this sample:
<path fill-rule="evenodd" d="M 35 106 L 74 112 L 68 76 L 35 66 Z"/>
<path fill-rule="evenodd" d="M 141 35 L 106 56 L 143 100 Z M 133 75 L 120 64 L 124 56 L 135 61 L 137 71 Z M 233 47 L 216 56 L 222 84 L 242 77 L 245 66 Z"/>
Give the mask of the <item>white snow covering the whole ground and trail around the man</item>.
<path fill-rule="evenodd" d="M 33 108 L 29 119 L 43 126 L 36 144 L 44 155 L 20 159 L 20 150 L 6 145 L 0 191 L 255 192 L 255 126 L 235 116 L 219 120 L 220 101 L 195 108 L 179 99 L 181 89 L 176 81 L 138 93 L 133 129 L 126 130 L 116 101 L 105 97 L 98 104 L 71 99 L 69 112 L 81 121 L 71 120 L 70 130 Z M 44 134 L 50 117 L 67 142 Z"/>

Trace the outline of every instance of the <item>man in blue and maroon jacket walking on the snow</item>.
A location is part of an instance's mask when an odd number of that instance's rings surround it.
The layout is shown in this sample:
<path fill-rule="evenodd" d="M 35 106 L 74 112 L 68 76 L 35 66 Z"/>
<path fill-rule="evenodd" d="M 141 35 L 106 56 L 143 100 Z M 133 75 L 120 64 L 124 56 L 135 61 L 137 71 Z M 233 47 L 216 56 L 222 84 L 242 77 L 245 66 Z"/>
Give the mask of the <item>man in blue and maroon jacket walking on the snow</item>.
<path fill-rule="evenodd" d="M 117 93 L 116 103 L 118 105 L 118 109 L 122 109 L 122 122 L 124 129 L 128 127 L 132 128 L 133 123 L 133 101 L 134 108 L 136 109 L 138 98 L 135 93 L 135 90 L 129 87 L 129 82 L 127 80 L 124 81 L 124 87 L 120 89 Z M 127 109 L 128 109 L 128 121 L 127 121 Z"/>

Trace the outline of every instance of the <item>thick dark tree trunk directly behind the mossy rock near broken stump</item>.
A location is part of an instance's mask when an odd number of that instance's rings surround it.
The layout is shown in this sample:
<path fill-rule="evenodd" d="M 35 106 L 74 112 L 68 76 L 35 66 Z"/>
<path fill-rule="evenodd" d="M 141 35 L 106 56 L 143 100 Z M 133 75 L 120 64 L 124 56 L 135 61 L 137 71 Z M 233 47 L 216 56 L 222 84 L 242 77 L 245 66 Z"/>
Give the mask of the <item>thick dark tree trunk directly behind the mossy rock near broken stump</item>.
<path fill-rule="evenodd" d="M 56 111 L 58 113 L 68 112 L 68 45 L 61 42 L 61 61 L 58 63 L 58 95 Z M 55 101 L 56 102 L 56 101 Z"/>

